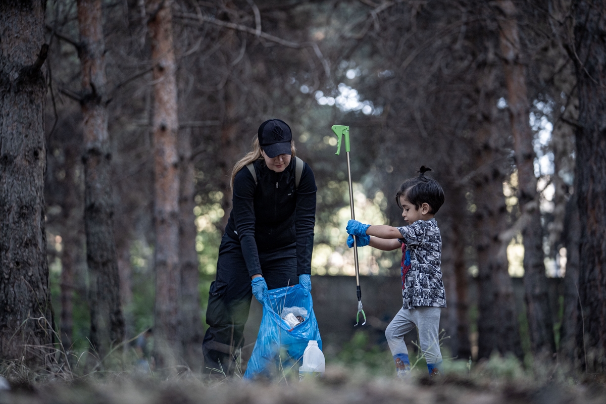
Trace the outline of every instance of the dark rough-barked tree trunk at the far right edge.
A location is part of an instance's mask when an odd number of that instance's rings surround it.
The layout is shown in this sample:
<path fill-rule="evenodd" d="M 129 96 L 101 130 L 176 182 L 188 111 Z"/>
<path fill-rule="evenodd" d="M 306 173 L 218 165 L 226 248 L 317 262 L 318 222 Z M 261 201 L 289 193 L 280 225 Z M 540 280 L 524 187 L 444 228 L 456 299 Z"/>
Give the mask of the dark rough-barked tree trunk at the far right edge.
<path fill-rule="evenodd" d="M 574 3 L 574 63 L 579 96 L 576 174 L 581 224 L 579 343 L 590 371 L 606 369 L 606 11 L 601 1 Z M 584 334 L 583 334 L 584 331 Z"/>

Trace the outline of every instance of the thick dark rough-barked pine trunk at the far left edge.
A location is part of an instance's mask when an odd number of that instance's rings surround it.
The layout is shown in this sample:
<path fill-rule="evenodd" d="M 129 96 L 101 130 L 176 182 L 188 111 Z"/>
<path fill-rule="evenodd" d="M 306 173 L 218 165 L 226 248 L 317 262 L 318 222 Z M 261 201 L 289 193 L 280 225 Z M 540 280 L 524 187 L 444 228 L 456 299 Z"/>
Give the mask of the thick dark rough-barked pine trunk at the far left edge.
<path fill-rule="evenodd" d="M 0 360 L 35 369 L 50 359 L 54 335 L 44 225 L 44 3 L 0 2 L 0 27 Z"/>

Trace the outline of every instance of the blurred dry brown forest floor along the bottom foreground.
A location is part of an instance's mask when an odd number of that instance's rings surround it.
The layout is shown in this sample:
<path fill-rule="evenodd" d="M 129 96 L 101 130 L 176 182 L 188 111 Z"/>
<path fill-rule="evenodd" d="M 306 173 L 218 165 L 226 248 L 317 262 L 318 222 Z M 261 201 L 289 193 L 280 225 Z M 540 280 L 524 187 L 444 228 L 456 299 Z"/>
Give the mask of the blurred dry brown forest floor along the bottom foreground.
<path fill-rule="evenodd" d="M 537 373 L 530 375 L 505 359 L 491 359 L 473 369 L 464 361 L 451 361 L 441 377 L 431 379 L 415 369 L 407 380 L 336 363 L 327 365 L 323 377 L 301 382 L 284 377 L 255 382 L 239 377 L 208 379 L 189 371 L 171 376 L 108 372 L 67 381 L 48 376 L 12 380 L 10 390 L 0 391 L 0 404 L 606 402 L 604 374 L 573 377 L 557 366 Z"/>

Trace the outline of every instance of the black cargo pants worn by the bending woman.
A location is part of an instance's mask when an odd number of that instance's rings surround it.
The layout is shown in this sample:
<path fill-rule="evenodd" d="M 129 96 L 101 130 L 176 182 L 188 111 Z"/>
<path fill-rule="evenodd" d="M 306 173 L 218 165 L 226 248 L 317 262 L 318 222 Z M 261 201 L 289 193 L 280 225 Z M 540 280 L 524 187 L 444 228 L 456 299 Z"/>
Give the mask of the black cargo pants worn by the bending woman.
<path fill-rule="evenodd" d="M 296 243 L 271 251 L 259 251 L 259 262 L 268 289 L 299 283 Z M 219 247 L 215 282 L 211 283 L 206 310 L 209 328 L 204 336 L 205 372 L 222 369 L 233 374 L 236 349 L 244 346 L 244 325 L 253 295 L 242 249 L 224 234 Z"/>

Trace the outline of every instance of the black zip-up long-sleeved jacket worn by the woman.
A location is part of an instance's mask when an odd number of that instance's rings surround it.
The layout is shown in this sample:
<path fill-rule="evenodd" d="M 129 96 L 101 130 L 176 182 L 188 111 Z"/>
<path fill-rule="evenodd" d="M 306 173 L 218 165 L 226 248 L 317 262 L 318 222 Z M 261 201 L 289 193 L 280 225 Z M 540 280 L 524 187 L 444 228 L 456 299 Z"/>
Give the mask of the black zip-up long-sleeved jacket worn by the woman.
<path fill-rule="evenodd" d="M 316 180 L 305 163 L 295 190 L 295 158 L 281 173 L 255 161 L 257 184 L 247 168 L 233 182 L 231 214 L 225 233 L 239 240 L 250 276 L 262 274 L 259 251 L 296 242 L 297 274 L 311 273 L 313 227 L 316 223 Z"/>

